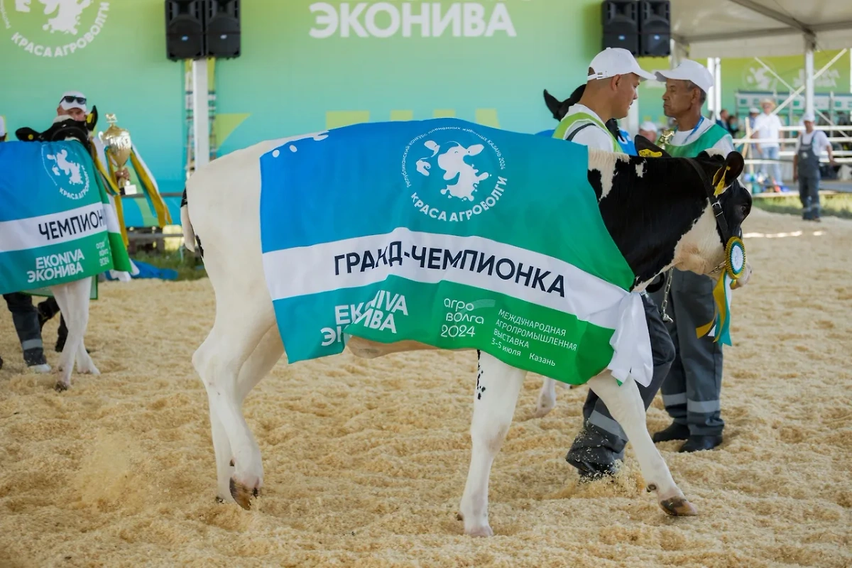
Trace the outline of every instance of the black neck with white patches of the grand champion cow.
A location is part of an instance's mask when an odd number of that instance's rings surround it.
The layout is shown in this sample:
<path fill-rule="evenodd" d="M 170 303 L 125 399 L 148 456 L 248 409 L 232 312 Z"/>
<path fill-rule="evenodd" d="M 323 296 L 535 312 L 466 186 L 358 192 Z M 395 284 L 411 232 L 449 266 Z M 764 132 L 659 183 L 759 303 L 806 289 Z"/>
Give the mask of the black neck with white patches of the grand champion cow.
<path fill-rule="evenodd" d="M 705 188 L 682 159 L 590 150 L 589 164 L 603 222 L 636 275 L 633 289 L 644 290 L 673 266 L 676 253 L 678 261 L 688 254 L 682 238 L 702 215 L 711 215 Z"/>

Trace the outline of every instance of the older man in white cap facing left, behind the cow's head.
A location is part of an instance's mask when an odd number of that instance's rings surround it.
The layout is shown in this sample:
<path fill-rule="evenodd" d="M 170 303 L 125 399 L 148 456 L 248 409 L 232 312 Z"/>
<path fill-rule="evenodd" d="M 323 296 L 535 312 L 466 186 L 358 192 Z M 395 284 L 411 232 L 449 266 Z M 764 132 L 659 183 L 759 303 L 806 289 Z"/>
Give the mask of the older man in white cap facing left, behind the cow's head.
<path fill-rule="evenodd" d="M 676 131 L 665 145 L 672 156 L 694 158 L 716 148 L 724 155 L 734 151 L 727 129 L 701 114 L 713 77 L 693 60 L 683 60 L 671 70 L 658 71 L 665 81 L 663 112 L 674 118 Z M 697 337 L 695 330 L 712 321 L 713 279 L 672 269 L 667 312 L 674 319 L 666 324 L 675 344 L 676 358 L 661 391 L 665 410 L 673 422 L 653 435 L 654 442 L 684 439 L 680 451 L 711 450 L 722 443 L 721 405 L 722 343 L 711 336 Z M 651 294 L 657 304 L 665 299 L 665 287 Z"/>

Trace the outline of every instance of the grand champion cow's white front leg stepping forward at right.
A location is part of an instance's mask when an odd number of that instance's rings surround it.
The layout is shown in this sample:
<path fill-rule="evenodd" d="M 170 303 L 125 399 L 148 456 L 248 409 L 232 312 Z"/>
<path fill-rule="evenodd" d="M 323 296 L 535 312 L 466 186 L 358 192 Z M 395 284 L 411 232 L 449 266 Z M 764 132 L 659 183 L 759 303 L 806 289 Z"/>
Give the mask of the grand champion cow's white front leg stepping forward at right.
<path fill-rule="evenodd" d="M 648 484 L 648 491 L 656 492 L 659 506 L 671 515 L 698 514 L 694 505 L 687 501 L 680 488 L 675 485 L 674 479 L 671 479 L 669 467 L 653 445 L 645 424 L 645 408 L 636 382 L 628 377 L 619 387 L 612 375 L 604 373 L 593 378 L 589 386 L 601 397 L 610 414 L 630 439 L 630 444 L 636 450 L 636 460 L 642 468 L 642 477 Z"/>

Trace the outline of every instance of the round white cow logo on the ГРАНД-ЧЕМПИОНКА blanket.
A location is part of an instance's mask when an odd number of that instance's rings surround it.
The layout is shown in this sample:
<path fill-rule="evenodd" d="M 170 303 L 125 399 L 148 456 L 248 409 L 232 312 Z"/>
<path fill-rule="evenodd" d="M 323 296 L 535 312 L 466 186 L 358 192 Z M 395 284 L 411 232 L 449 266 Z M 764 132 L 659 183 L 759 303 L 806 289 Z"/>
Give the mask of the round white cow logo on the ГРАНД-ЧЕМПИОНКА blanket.
<path fill-rule="evenodd" d="M 409 171 L 410 164 L 415 170 Z M 495 206 L 506 191 L 498 146 L 473 129 L 439 127 L 417 136 L 402 155 L 412 204 L 439 221 L 468 221 Z"/>

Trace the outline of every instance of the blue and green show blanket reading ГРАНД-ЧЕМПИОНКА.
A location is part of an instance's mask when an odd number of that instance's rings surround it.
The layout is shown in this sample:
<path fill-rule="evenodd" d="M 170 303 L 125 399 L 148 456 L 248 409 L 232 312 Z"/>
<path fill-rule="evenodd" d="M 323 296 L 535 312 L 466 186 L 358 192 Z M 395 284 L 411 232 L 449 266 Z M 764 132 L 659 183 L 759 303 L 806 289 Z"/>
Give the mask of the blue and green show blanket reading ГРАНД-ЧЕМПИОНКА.
<path fill-rule="evenodd" d="M 476 348 L 573 384 L 607 368 L 650 382 L 642 301 L 585 146 L 440 118 L 291 139 L 260 162 L 289 361 L 358 336 Z"/>

